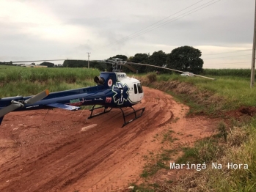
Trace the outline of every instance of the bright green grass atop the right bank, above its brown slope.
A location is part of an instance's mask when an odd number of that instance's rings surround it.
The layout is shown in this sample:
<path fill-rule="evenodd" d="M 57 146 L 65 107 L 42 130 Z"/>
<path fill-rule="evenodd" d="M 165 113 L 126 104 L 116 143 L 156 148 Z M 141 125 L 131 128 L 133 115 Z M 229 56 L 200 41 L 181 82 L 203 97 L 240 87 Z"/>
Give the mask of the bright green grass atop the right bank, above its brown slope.
<path fill-rule="evenodd" d="M 211 92 L 213 95 L 223 97 L 225 103 L 223 108 L 232 109 L 239 106 L 256 106 L 256 87 L 250 88 L 250 78 L 242 78 L 240 76 L 215 76 L 208 77 L 216 78 L 212 81 L 207 78 L 187 78 L 180 75 L 158 75 L 157 81 L 180 81 L 192 84 L 197 89 L 203 92 Z"/>

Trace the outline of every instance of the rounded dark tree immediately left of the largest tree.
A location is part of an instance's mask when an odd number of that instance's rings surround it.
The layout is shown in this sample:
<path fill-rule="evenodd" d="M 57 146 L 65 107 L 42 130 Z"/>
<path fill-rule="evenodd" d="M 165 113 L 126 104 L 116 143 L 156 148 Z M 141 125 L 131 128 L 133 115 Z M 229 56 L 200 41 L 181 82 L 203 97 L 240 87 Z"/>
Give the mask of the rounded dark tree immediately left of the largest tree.
<path fill-rule="evenodd" d="M 155 51 L 150 58 L 148 59 L 148 64 L 156 65 L 159 67 L 165 67 L 167 63 L 167 54 L 163 51 Z M 160 70 L 156 69 L 156 67 L 147 67 L 147 72 L 153 71 L 153 70 Z"/>

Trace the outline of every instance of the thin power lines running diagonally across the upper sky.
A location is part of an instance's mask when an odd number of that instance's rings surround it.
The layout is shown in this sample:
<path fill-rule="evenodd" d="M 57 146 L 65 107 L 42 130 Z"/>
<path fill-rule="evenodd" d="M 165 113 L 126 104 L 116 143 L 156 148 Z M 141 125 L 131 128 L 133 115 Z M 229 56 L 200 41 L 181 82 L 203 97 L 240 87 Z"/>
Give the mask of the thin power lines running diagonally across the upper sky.
<path fill-rule="evenodd" d="M 215 1 L 215 0 L 212 0 L 212 1 Z M 220 0 L 219 0 L 219 1 L 220 1 Z M 218 1 L 215 1 L 215 2 L 213 2 L 213 3 L 211 3 L 211 1 L 209 1 L 209 2 L 207 2 L 207 3 L 205 3 L 205 4 L 200 5 L 199 7 L 194 8 L 193 10 L 195 10 L 194 12 L 197 12 L 197 11 L 199 11 L 199 10 L 202 10 L 202 9 L 205 8 L 205 7 L 210 6 L 211 4 L 215 4 L 216 2 L 218 2 Z M 209 4 L 209 3 L 211 3 L 211 4 Z M 207 5 L 206 5 L 206 4 L 207 4 Z M 205 7 L 202 7 L 202 6 L 204 6 L 204 5 L 205 5 Z M 202 7 L 202 8 L 200 8 L 200 7 Z M 200 9 L 198 9 L 198 8 L 200 8 Z M 145 33 L 147 33 L 147 32 L 151 32 L 151 31 L 153 31 L 154 29 L 157 29 L 157 28 L 159 28 L 159 27 L 161 27 L 161 26 L 167 25 L 168 23 L 171 23 L 171 22 L 173 22 L 173 21 L 177 21 L 178 19 L 183 18 L 183 17 L 185 17 L 186 15 L 190 15 L 190 14 L 194 13 L 194 12 L 191 12 L 191 11 L 192 11 L 192 10 L 189 10 L 189 11 L 188 11 L 189 13 L 188 13 L 188 12 L 184 12 L 183 14 L 178 15 L 178 16 L 175 17 L 175 18 L 172 18 L 172 19 L 170 19 L 170 20 L 168 20 L 168 21 L 165 21 L 165 22 L 163 22 L 163 23 L 160 23 L 160 24 L 158 24 L 157 26 L 153 26 L 153 28 L 147 29 L 147 30 L 145 30 L 144 32 L 140 32 L 139 34 L 131 35 L 131 37 L 128 37 L 127 40 L 120 40 L 120 41 L 118 41 L 117 43 L 114 43 L 113 45 L 117 45 L 117 44 L 123 43 L 123 42 L 125 42 L 125 41 L 131 40 L 131 39 L 133 39 L 134 37 L 138 37 L 138 36 L 140 36 L 140 35 L 142 35 L 142 34 L 145 34 Z M 184 15 L 184 14 L 186 14 L 186 15 Z M 182 16 L 182 15 L 183 15 L 183 16 Z M 181 16 L 181 17 L 180 17 L 180 16 Z M 109 45 L 109 46 L 112 46 L 112 45 Z"/>

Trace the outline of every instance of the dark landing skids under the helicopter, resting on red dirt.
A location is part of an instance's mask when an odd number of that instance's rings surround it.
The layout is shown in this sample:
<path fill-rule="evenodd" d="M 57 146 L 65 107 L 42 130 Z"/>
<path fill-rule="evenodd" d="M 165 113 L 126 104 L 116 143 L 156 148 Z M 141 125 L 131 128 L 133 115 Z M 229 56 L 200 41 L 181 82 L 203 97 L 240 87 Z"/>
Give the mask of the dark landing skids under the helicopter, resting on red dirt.
<path fill-rule="evenodd" d="M 98 108 L 104 108 L 104 111 L 101 112 L 101 113 L 92 115 L 92 112 L 93 112 L 95 109 L 98 109 Z M 125 114 L 124 111 L 122 110 L 122 108 L 120 108 L 120 110 L 122 111 L 122 117 L 123 117 L 123 121 L 124 121 L 124 124 L 122 125 L 122 128 L 123 128 L 125 125 L 127 125 L 128 123 L 130 123 L 130 122 L 134 121 L 135 119 L 138 119 L 139 117 L 141 117 L 142 114 L 143 114 L 143 112 L 145 111 L 145 107 L 144 107 L 144 108 L 139 108 L 138 110 L 135 110 L 133 107 L 131 107 L 131 108 L 132 108 L 134 111 L 132 111 L 132 112 L 129 113 L 129 114 Z M 93 106 L 92 109 L 89 110 L 89 111 L 92 111 L 92 112 L 91 112 L 90 116 L 89 116 L 87 119 L 91 119 L 92 117 L 99 116 L 100 114 L 106 114 L 106 113 L 108 113 L 109 111 L 111 111 L 112 108 L 110 108 L 109 110 L 106 110 L 106 109 L 107 109 L 107 107 L 105 107 L 105 106 L 100 106 L 100 107 L 97 107 L 97 108 L 95 108 L 95 106 Z M 137 116 L 136 113 L 139 112 L 139 111 L 141 111 L 141 113 Z M 125 121 L 125 117 L 128 117 L 128 116 L 131 115 L 131 114 L 134 114 L 134 116 L 135 116 L 134 119 L 131 119 L 131 120 L 129 120 L 128 122 L 126 122 L 126 121 Z"/>

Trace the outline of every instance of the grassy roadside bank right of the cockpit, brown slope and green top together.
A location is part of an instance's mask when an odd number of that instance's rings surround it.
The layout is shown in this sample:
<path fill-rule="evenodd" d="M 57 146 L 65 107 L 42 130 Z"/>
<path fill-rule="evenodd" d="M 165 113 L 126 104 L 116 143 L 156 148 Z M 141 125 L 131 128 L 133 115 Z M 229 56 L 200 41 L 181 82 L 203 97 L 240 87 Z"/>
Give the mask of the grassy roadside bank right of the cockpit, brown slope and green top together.
<path fill-rule="evenodd" d="M 156 81 L 138 76 L 142 85 L 161 89 L 186 103 L 191 114 L 220 114 L 240 106 L 256 106 L 256 89 L 251 89 L 249 78 L 211 76 L 187 78 L 176 74 L 157 75 Z"/>

